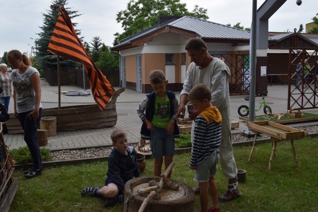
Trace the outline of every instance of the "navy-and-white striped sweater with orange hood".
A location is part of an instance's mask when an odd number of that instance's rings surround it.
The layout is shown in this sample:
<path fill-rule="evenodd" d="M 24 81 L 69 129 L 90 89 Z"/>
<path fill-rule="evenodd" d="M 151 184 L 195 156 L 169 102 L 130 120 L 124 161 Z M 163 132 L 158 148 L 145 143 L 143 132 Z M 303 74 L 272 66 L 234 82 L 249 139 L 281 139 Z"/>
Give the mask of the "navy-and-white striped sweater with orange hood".
<path fill-rule="evenodd" d="M 206 108 L 196 117 L 191 167 L 196 167 L 218 150 L 221 143 L 221 122 L 221 113 L 216 107 Z"/>

